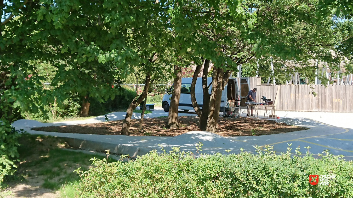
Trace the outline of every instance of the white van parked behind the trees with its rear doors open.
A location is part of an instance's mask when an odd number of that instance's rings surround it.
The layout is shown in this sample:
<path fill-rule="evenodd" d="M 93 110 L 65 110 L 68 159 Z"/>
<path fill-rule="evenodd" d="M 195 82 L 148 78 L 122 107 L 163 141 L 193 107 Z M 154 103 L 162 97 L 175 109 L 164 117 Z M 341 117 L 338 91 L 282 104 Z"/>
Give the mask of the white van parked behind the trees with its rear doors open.
<path fill-rule="evenodd" d="M 184 111 L 194 110 L 191 103 L 190 87 L 191 87 L 192 78 L 181 78 L 181 93 L 179 100 L 179 108 Z M 208 84 L 212 83 L 212 77 L 207 78 Z M 170 87 L 169 91 L 173 90 L 173 86 Z M 208 90 L 211 94 L 211 86 Z M 202 78 L 197 78 L 195 85 L 195 97 L 197 104 L 202 109 L 203 104 L 203 91 L 202 91 Z M 162 99 L 162 107 L 164 111 L 169 111 L 170 99 L 172 94 L 166 93 Z M 238 82 L 235 78 L 229 78 L 228 85 L 222 91 L 221 98 L 221 108 L 220 112 L 225 111 L 225 106 L 227 106 L 228 100 L 235 100 L 237 107 L 239 106 L 239 91 L 238 91 Z"/>

